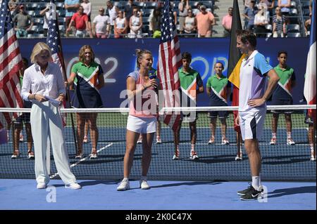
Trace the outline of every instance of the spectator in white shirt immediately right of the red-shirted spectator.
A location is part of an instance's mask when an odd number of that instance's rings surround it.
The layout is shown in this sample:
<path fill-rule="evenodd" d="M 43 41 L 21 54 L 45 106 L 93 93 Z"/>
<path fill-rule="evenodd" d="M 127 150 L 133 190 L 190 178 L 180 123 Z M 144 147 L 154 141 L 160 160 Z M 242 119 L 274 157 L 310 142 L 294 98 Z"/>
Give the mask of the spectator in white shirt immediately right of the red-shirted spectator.
<path fill-rule="evenodd" d="M 104 15 L 104 8 L 99 8 L 99 15 L 92 21 L 92 32 L 97 38 L 106 38 L 110 32 L 110 20 Z"/>

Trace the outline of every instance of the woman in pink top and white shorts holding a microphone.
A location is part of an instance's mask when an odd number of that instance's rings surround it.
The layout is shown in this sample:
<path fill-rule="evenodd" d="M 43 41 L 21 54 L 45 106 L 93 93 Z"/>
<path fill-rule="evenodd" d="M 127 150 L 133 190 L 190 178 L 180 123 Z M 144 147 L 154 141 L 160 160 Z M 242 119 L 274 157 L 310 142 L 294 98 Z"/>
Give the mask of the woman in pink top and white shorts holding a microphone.
<path fill-rule="evenodd" d="M 127 122 L 125 158 L 123 161 L 123 180 L 117 190 L 129 190 L 129 176 L 133 164 L 133 156 L 139 134 L 142 134 L 142 177 L 140 188 L 149 189 L 147 171 L 151 162 L 151 146 L 156 132 L 156 93 L 158 84 L 156 79 L 149 77 L 149 70 L 153 64 L 150 51 L 137 49 L 137 67 L 139 70 L 128 74 L 127 91 L 130 100 L 130 112 Z"/>

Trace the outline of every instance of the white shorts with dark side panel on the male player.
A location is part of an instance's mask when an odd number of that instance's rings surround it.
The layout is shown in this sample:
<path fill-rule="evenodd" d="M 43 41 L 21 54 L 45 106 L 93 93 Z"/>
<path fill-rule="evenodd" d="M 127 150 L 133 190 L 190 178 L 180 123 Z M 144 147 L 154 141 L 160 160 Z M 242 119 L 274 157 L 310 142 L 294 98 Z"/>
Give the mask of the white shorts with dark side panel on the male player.
<path fill-rule="evenodd" d="M 260 140 L 266 119 L 266 108 L 260 110 L 254 108 L 246 112 L 239 112 L 239 118 L 242 139 Z"/>

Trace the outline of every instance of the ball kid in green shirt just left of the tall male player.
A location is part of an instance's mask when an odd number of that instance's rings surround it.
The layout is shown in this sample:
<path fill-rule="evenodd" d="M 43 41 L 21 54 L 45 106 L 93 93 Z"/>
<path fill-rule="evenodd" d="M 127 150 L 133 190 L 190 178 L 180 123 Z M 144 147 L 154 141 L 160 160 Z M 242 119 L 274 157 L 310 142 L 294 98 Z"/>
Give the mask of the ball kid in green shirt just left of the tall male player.
<path fill-rule="evenodd" d="M 206 85 L 207 94 L 209 95 L 211 107 L 216 106 L 228 106 L 227 98 L 230 96 L 231 84 L 228 81 L 227 77 L 223 75 L 223 63 L 216 62 L 213 67 L 216 74 L 212 77 L 209 77 Z M 208 113 L 210 117 L 210 129 L 211 129 L 211 138 L 209 139 L 208 144 L 215 143 L 216 136 L 216 119 L 217 116 L 221 122 L 221 145 L 229 145 L 229 141 L 225 136 L 227 131 L 227 122 L 228 111 L 211 111 Z"/>

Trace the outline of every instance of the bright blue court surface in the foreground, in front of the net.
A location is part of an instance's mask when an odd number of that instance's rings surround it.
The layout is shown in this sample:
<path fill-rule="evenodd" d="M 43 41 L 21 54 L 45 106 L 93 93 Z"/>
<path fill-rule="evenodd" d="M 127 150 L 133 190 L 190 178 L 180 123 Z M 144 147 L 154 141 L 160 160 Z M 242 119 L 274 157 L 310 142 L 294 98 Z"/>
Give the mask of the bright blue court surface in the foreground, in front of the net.
<path fill-rule="evenodd" d="M 37 190 L 35 180 L 0 179 L 0 209 L 87 210 L 316 210 L 316 183 L 263 182 L 267 198 L 242 202 L 237 190 L 246 182 L 149 180 L 150 190 L 117 192 L 118 181 L 79 180 L 81 190 L 66 189 L 61 180 L 51 180 L 46 190 Z M 56 194 L 55 194 L 56 192 Z"/>

